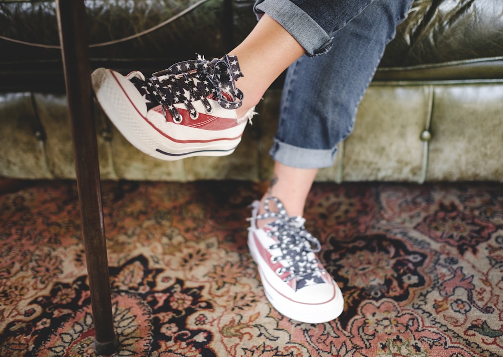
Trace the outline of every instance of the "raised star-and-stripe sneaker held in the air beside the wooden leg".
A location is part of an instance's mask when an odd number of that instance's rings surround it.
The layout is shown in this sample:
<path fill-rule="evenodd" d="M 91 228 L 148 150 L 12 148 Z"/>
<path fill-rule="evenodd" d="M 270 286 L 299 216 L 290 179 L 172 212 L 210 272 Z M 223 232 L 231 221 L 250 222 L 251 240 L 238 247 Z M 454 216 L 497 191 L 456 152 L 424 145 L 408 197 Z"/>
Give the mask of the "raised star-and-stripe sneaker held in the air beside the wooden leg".
<path fill-rule="evenodd" d="M 136 148 L 163 160 L 223 156 L 241 141 L 251 109 L 236 117 L 243 94 L 235 56 L 202 56 L 174 64 L 149 79 L 139 71 L 123 76 L 111 69 L 92 73 L 95 96 L 105 114 Z"/>

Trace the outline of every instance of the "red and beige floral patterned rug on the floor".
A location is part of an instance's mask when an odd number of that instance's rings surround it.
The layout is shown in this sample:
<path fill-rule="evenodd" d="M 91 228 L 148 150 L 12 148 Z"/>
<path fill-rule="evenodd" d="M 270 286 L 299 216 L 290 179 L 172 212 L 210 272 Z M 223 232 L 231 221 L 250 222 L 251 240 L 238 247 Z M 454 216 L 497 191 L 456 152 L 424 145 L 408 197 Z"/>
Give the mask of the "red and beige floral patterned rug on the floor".
<path fill-rule="evenodd" d="M 113 312 L 134 356 L 503 355 L 500 184 L 315 184 L 306 227 L 346 306 L 268 304 L 242 182 L 105 183 Z M 94 355 L 73 182 L 0 196 L 0 355 Z"/>

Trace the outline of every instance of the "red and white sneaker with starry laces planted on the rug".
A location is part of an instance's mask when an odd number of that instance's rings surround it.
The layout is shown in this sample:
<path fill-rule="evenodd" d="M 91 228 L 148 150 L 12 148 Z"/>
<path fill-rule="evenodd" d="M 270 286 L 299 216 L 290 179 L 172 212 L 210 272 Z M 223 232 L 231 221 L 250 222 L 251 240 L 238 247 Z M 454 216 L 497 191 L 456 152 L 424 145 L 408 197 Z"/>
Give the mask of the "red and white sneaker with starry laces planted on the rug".
<path fill-rule="evenodd" d="M 270 200 L 277 212 L 270 210 Z M 337 318 L 344 309 L 343 296 L 315 255 L 320 243 L 305 230 L 305 219 L 289 217 L 275 197 L 264 201 L 266 213 L 262 215 L 258 215 L 259 201 L 251 206 L 248 247 L 271 305 L 300 322 L 322 323 Z M 276 220 L 257 228 L 257 220 L 271 218 Z"/>

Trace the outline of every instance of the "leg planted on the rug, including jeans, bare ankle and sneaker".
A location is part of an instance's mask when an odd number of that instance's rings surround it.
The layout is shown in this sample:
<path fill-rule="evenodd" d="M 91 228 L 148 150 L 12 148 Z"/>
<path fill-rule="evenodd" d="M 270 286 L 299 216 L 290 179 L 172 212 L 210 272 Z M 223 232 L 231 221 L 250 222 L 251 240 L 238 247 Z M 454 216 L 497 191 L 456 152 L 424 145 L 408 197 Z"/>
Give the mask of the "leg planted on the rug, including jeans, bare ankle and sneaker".
<path fill-rule="evenodd" d="M 269 301 L 290 318 L 319 323 L 343 311 L 341 291 L 314 255 L 319 241 L 300 216 L 317 169 L 332 164 L 337 143 L 351 132 L 358 104 L 408 3 L 375 0 L 334 34 L 327 54 L 303 56 L 288 70 L 271 149 L 274 175 L 253 205 L 248 245 Z"/>

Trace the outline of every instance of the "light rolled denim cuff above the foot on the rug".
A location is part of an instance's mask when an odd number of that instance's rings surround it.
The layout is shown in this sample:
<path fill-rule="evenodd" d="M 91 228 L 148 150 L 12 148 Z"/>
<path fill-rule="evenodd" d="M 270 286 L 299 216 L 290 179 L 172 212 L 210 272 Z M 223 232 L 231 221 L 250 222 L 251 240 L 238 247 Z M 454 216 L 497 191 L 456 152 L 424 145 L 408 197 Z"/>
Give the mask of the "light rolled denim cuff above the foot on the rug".
<path fill-rule="evenodd" d="M 275 161 L 297 168 L 331 167 L 337 155 L 337 147 L 333 149 L 308 149 L 297 147 L 274 138 L 269 154 Z"/>

